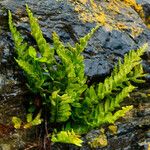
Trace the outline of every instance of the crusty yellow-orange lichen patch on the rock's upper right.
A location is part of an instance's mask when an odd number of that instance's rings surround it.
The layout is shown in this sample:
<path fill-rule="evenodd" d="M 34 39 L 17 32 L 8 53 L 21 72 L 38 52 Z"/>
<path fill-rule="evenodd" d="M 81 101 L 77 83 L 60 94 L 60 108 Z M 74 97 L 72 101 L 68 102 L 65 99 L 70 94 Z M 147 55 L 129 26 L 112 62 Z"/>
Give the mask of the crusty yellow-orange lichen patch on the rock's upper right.
<path fill-rule="evenodd" d="M 127 30 L 131 31 L 131 36 L 138 36 L 142 29 L 137 26 L 131 26 L 127 22 L 118 20 L 118 15 L 122 15 L 123 18 L 130 18 L 133 12 L 130 12 L 128 7 L 132 7 L 139 13 L 141 18 L 144 18 L 142 6 L 137 4 L 135 0 L 109 0 L 108 1 L 96 1 L 96 0 L 69 0 L 75 8 L 75 11 L 79 13 L 79 18 L 83 22 L 96 22 L 105 26 L 110 30 Z M 124 10 L 125 13 L 122 13 Z M 136 29 L 136 30 L 134 30 Z"/>

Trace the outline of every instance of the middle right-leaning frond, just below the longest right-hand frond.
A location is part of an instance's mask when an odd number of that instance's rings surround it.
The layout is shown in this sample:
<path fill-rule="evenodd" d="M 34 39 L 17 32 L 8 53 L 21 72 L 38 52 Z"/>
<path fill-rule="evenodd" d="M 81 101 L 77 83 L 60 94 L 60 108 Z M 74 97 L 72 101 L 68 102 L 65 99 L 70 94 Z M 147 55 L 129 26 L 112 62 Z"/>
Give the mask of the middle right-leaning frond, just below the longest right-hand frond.
<path fill-rule="evenodd" d="M 112 112 L 117 108 L 120 107 L 120 103 L 126 98 L 130 92 L 135 89 L 134 86 L 129 85 L 122 89 L 120 93 L 116 95 L 115 98 L 109 96 L 105 101 L 98 103 L 95 97 L 95 101 L 93 101 L 88 95 L 86 95 L 86 99 L 83 102 L 83 106 L 87 106 L 85 110 L 82 107 L 82 111 L 84 113 L 79 114 L 85 122 L 92 127 L 98 127 L 103 123 L 108 123 L 108 119 L 112 118 Z M 86 104 L 86 105 L 85 105 Z M 95 105 L 95 107 L 93 106 Z M 97 106 L 96 106 L 97 105 Z M 81 111 L 81 110 L 78 110 Z M 109 118 L 110 117 L 110 118 Z"/>

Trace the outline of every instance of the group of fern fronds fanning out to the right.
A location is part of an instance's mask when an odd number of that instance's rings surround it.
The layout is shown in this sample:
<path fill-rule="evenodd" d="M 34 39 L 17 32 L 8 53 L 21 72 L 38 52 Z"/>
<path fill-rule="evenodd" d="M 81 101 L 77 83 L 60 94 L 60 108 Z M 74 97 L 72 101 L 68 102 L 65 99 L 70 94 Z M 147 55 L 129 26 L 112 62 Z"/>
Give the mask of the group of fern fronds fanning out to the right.
<path fill-rule="evenodd" d="M 130 51 L 125 55 L 123 63 L 119 60 L 111 76 L 106 78 L 104 83 L 91 86 L 86 90 L 81 107 L 75 110 L 75 121 L 84 120 L 90 128 L 93 128 L 104 123 L 114 123 L 119 118 L 119 113 L 114 113 L 114 111 L 120 107 L 124 98 L 136 88 L 132 83 L 144 82 L 141 79 L 145 74 L 143 74 L 140 64 L 140 56 L 145 49 L 146 45 L 137 51 Z M 125 114 L 130 109 L 131 106 L 123 107 L 123 110 L 120 110 L 120 117 L 123 116 L 123 112 Z"/>

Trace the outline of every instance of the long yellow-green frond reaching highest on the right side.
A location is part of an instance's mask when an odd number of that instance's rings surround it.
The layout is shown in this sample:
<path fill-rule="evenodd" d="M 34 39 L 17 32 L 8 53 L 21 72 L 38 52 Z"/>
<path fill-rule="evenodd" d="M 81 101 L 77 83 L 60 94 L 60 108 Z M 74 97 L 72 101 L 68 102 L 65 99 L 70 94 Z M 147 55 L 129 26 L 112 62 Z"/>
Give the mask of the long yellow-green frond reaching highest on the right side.
<path fill-rule="evenodd" d="M 106 78 L 104 83 L 99 83 L 98 85 L 98 97 L 100 100 L 104 99 L 107 95 L 112 93 L 112 90 L 115 90 L 119 87 L 122 87 L 123 84 L 126 84 L 132 77 L 128 77 L 129 73 L 140 64 L 140 56 L 146 51 L 147 44 L 142 46 L 137 51 L 130 51 L 129 54 L 126 54 L 124 57 L 124 63 L 121 63 L 119 60 L 118 65 L 115 66 L 114 71 L 112 72 L 109 78 Z M 138 76 L 134 76 L 134 81 L 137 81 L 137 77 L 140 77 L 140 74 L 143 72 L 140 70 Z"/>

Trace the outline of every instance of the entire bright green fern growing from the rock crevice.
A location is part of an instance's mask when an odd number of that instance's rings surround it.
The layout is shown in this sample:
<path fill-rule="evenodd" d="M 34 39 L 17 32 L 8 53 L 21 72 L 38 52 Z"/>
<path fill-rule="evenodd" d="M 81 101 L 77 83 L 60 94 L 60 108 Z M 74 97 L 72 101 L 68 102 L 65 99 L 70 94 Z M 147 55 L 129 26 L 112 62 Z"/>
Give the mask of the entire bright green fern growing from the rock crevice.
<path fill-rule="evenodd" d="M 55 131 L 50 133 L 51 140 L 81 146 L 82 140 L 76 134 L 87 133 L 104 123 L 114 123 L 132 109 L 132 106 L 125 106 L 119 110 L 120 103 L 136 88 L 134 83 L 144 82 L 141 79 L 145 74 L 140 56 L 147 45 L 137 51 L 131 50 L 123 62 L 119 60 L 111 76 L 103 83 L 88 86 L 81 53 L 99 26 L 80 38 L 74 46 L 69 43 L 65 46 L 54 32 L 53 45 L 50 46 L 27 5 L 26 10 L 31 35 L 38 48 L 24 41 L 9 11 L 9 27 L 17 54 L 15 60 L 24 70 L 28 88 L 42 98 L 41 114 L 46 111 L 47 121 Z M 27 127 L 36 125 L 31 116 L 27 117 Z M 18 122 L 18 119 L 15 121 Z M 37 122 L 41 123 L 39 117 Z"/>

